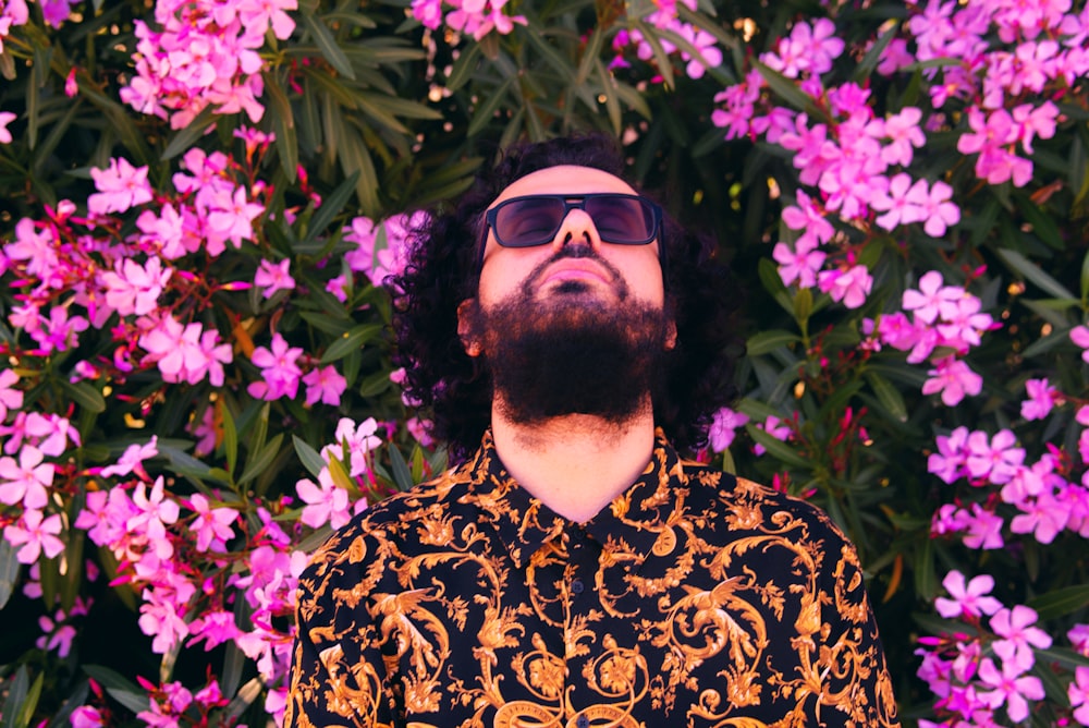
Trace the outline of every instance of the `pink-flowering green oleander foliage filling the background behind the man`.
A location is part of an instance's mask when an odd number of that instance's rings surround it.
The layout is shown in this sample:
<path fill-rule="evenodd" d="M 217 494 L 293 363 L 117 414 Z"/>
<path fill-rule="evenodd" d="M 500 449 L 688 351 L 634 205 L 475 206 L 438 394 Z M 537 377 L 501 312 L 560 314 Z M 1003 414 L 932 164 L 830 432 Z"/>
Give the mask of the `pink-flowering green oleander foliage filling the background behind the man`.
<path fill-rule="evenodd" d="M 404 214 L 597 129 L 747 279 L 699 454 L 847 531 L 908 720 L 1089 725 L 1087 34 L 1069 0 L 0 0 L 0 719 L 280 716 L 305 553 L 444 466 L 391 371 Z"/>

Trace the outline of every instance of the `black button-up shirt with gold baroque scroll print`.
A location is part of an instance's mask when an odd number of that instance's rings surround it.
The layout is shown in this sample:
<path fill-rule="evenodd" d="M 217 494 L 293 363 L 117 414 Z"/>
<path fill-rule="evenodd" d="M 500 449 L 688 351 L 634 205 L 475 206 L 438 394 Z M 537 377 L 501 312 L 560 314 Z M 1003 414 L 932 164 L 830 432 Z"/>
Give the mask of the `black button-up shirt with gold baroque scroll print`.
<path fill-rule="evenodd" d="M 299 581 L 286 725 L 898 726 L 854 548 L 678 459 L 586 523 L 475 458 L 374 506 Z"/>

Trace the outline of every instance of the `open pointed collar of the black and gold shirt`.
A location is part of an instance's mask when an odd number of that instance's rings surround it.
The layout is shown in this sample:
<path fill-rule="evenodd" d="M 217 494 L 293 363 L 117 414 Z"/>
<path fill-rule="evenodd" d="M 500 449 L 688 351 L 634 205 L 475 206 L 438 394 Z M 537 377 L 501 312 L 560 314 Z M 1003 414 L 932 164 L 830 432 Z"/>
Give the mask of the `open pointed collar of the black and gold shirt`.
<path fill-rule="evenodd" d="M 466 463 L 470 501 L 498 531 L 511 558 L 523 568 L 547 543 L 561 538 L 578 524 L 560 515 L 518 485 L 506 472 L 491 430 L 485 433 L 480 449 Z M 670 517 L 687 493 L 687 478 L 676 450 L 661 429 L 654 433 L 654 449 L 646 470 L 635 483 L 616 496 L 597 515 L 582 524 L 586 533 L 605 550 L 624 550 L 641 561 L 669 531 Z"/>

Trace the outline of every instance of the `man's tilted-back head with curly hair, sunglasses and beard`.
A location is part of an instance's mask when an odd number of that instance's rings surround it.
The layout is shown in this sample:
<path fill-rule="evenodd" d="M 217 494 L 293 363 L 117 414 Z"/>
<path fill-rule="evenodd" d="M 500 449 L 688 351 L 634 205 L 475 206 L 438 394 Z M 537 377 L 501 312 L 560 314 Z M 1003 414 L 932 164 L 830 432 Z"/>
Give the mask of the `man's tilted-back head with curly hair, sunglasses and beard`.
<path fill-rule="evenodd" d="M 393 281 L 396 355 L 455 459 L 493 398 L 529 424 L 652 407 L 681 447 L 732 398 L 725 271 L 623 171 L 602 136 L 519 146 L 417 231 Z"/>

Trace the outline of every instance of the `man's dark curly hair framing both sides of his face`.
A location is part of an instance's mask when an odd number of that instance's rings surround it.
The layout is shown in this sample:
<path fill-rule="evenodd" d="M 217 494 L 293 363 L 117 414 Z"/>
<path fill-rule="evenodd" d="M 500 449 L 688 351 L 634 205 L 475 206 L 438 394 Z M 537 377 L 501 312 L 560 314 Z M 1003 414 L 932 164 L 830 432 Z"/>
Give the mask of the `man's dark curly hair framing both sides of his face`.
<path fill-rule="evenodd" d="M 491 420 L 491 376 L 482 357 L 465 353 L 457 333 L 458 304 L 477 295 L 484 213 L 515 180 L 559 165 L 621 179 L 626 169 L 616 141 L 601 134 L 507 148 L 452 208 L 421 216 L 426 221 L 412 232 L 408 264 L 387 281 L 394 299 L 394 361 L 405 368 L 406 398 L 430 418 L 431 435 L 448 445 L 453 462 L 479 446 Z M 733 373 L 744 349 L 735 333 L 738 289 L 715 259 L 713 241 L 669 215 L 660 243 L 677 344 L 651 393 L 654 421 L 675 447 L 695 450 L 706 444 L 713 414 L 736 396 Z"/>

